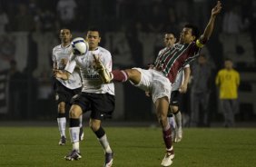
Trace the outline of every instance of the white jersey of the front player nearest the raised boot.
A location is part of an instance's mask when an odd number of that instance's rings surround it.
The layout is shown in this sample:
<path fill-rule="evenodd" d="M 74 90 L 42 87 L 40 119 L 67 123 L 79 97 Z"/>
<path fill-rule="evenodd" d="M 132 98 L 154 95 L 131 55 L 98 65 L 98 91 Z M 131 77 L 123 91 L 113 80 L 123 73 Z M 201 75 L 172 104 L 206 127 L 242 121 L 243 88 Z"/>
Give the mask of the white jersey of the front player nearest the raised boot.
<path fill-rule="evenodd" d="M 94 51 L 89 51 L 84 55 L 73 55 L 65 70 L 69 73 L 73 73 L 74 66 L 77 65 L 80 68 L 83 90 L 85 93 L 110 93 L 114 95 L 113 83 L 103 83 L 100 75 L 94 70 L 94 55 L 99 56 L 100 60 L 108 71 L 112 71 L 112 55 L 109 51 L 103 47 L 97 47 Z"/>

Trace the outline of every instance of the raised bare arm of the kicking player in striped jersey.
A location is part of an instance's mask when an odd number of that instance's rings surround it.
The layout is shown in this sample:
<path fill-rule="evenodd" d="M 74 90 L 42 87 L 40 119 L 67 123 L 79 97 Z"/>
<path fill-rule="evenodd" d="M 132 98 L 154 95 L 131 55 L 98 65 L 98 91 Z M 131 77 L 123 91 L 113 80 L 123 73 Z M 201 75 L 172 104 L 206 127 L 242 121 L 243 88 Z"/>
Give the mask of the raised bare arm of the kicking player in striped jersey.
<path fill-rule="evenodd" d="M 202 34 L 202 38 L 205 40 L 208 40 L 210 38 L 210 36 L 212 35 L 212 30 L 214 27 L 214 23 L 215 23 L 215 18 L 218 14 L 220 14 L 222 11 L 222 3 L 221 1 L 217 2 L 217 5 L 215 5 L 212 8 L 212 15 L 210 17 L 209 23 L 208 25 L 206 25 L 204 32 Z"/>

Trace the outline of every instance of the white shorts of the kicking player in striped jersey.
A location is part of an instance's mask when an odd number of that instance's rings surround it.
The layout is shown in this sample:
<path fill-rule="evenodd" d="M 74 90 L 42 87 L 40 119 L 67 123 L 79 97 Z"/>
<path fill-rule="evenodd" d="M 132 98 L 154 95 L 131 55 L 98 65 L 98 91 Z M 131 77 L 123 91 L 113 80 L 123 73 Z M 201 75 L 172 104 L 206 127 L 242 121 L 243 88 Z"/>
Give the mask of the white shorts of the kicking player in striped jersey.
<path fill-rule="evenodd" d="M 170 103 L 172 86 L 169 79 L 166 76 L 164 76 L 162 72 L 153 69 L 133 69 L 138 70 L 142 75 L 141 82 L 138 84 L 133 83 L 134 86 L 142 89 L 143 91 L 152 93 L 153 103 L 155 103 L 157 99 L 162 98 L 164 96 L 168 98 L 168 101 Z"/>

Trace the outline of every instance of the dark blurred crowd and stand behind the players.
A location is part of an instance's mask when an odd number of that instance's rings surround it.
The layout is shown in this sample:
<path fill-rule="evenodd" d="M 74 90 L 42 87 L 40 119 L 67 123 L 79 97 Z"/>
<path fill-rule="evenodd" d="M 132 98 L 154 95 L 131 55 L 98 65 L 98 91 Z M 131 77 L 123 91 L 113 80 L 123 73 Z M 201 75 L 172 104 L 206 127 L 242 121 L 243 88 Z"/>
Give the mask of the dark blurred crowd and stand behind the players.
<path fill-rule="evenodd" d="M 179 39 L 186 23 L 198 25 L 202 32 L 215 3 L 212 0 L 0 0 L 0 66 L 3 67 L 0 74 L 7 74 L 6 79 L 0 80 L 8 94 L 0 95 L 1 117 L 54 118 L 51 51 L 54 45 L 60 44 L 61 28 L 84 36 L 88 26 L 96 25 L 102 31 L 100 45 L 113 54 L 114 68 L 146 67 L 163 47 L 165 32 L 172 31 Z M 222 15 L 216 20 L 212 38 L 202 51 L 212 70 L 210 120 L 222 120 L 216 105 L 214 77 L 222 68 L 224 58 L 229 57 L 241 73 L 241 110 L 237 119 L 251 121 L 256 114 L 256 104 L 248 98 L 256 94 L 256 78 L 253 79 L 256 1 L 225 0 L 222 5 Z M 25 58 L 21 58 L 21 54 L 25 54 Z M 0 89 L 5 92 L 3 87 Z M 182 105 L 188 118 L 189 94 L 183 95 Z M 154 119 L 150 99 L 129 83 L 116 84 L 116 95 L 120 97 L 116 119 Z"/>

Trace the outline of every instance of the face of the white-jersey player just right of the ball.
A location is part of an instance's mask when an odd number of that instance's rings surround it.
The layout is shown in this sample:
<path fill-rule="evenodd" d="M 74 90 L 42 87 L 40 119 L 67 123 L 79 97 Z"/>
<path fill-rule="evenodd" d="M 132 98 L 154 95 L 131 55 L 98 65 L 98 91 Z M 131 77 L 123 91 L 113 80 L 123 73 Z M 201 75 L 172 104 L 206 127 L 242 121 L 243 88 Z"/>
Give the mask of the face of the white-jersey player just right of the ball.
<path fill-rule="evenodd" d="M 86 35 L 86 41 L 89 44 L 89 50 L 94 51 L 96 47 L 98 47 L 101 42 L 101 37 L 99 36 L 99 32 L 97 31 L 88 31 Z"/>

